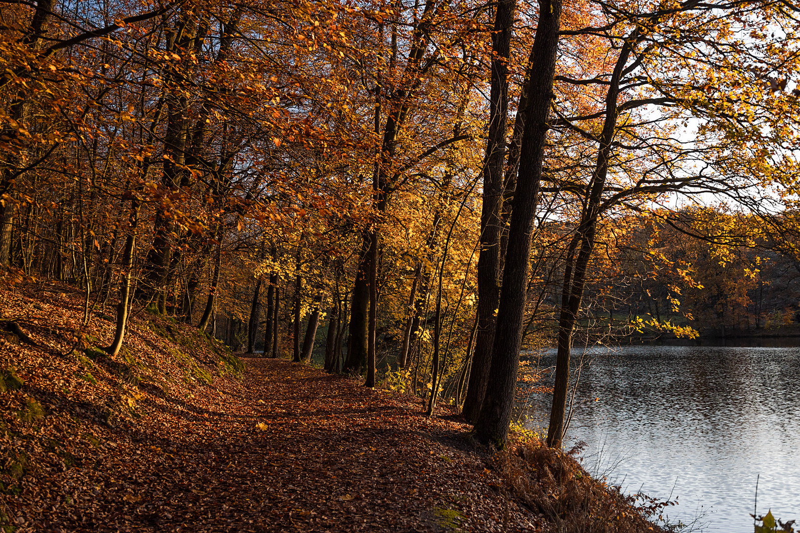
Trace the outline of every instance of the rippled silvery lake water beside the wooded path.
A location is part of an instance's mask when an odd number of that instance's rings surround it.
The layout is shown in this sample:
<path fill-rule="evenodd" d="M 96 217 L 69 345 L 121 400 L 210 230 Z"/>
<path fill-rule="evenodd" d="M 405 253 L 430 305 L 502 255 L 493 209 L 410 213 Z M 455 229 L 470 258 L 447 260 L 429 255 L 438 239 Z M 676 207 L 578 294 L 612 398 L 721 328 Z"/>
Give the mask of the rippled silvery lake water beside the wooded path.
<path fill-rule="evenodd" d="M 627 346 L 586 360 L 566 436 L 586 442 L 590 471 L 626 491 L 672 492 L 670 519 L 699 517 L 714 533 L 753 531 L 760 475 L 758 514 L 800 523 L 800 348 Z M 528 401 L 527 425 L 546 427 L 551 396 Z"/>

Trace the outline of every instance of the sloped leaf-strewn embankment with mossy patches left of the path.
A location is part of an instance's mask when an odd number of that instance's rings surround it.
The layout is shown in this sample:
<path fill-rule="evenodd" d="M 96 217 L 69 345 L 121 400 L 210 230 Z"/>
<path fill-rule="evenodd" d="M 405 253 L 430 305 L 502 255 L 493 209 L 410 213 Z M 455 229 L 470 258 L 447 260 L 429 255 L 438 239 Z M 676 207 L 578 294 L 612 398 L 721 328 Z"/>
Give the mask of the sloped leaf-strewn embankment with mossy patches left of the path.
<path fill-rule="evenodd" d="M 114 316 L 94 314 L 81 338 L 82 297 L 64 284 L 0 289 L 0 527 L 57 531 L 50 513 L 80 523 L 97 507 L 95 477 L 141 455 L 142 432 L 165 435 L 199 406 L 242 387 L 228 348 L 186 324 L 134 309 L 109 357 Z"/>

